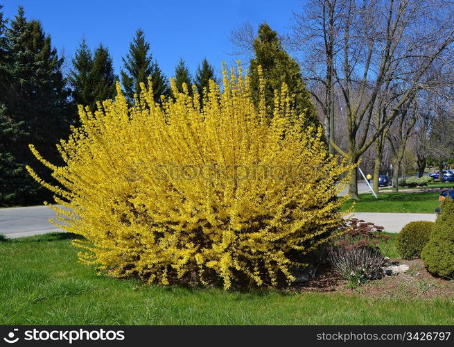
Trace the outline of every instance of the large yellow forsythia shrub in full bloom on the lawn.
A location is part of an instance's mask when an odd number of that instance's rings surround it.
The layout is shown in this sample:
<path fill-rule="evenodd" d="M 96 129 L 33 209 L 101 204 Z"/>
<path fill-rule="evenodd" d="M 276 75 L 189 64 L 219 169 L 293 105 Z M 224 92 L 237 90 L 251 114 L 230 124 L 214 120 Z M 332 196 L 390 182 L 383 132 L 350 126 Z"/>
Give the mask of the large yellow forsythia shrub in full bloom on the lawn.
<path fill-rule="evenodd" d="M 82 125 L 58 145 L 66 166 L 30 146 L 60 183 L 28 167 L 69 209 L 52 206 L 57 221 L 85 237 L 74 241 L 80 260 L 164 285 L 294 280 L 301 255 L 335 236 L 335 196 L 351 167 L 328 153 L 322 128 L 302 128 L 286 85 L 270 119 L 260 85 L 256 106 L 241 67 L 224 71 L 222 91 L 210 81 L 202 108 L 195 87 L 191 97 L 174 82 L 175 99 L 156 103 L 148 83 L 128 108 L 117 85 L 94 114 L 79 108 Z"/>

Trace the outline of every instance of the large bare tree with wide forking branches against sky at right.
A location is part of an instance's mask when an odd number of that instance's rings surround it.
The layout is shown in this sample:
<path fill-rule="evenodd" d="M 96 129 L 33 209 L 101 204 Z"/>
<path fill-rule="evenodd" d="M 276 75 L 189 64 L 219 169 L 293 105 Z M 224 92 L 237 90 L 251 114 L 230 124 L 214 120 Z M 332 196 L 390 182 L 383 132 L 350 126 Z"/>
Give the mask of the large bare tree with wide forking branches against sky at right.
<path fill-rule="evenodd" d="M 327 65 L 333 62 L 334 82 L 342 90 L 348 139 L 346 149 L 333 141 L 331 145 L 350 163 L 358 164 L 361 155 L 399 115 L 402 105 L 421 87 L 430 87 L 428 70 L 434 62 L 442 68 L 449 63 L 454 7 L 451 0 L 311 1 L 318 13 L 324 13 L 327 3 L 333 4 L 333 13 L 338 14 L 335 28 L 325 26 L 319 18 L 312 37 L 323 52 L 325 37 L 329 31 L 335 33 L 333 58 L 326 56 L 326 51 L 324 58 Z M 306 12 L 295 17 L 297 23 L 306 18 L 310 19 Z M 324 71 L 315 77 L 321 83 L 326 81 Z M 390 81 L 399 84 L 401 92 L 381 124 L 373 128 L 372 117 L 378 115 L 376 108 Z M 358 198 L 356 180 L 353 171 L 350 198 Z"/>

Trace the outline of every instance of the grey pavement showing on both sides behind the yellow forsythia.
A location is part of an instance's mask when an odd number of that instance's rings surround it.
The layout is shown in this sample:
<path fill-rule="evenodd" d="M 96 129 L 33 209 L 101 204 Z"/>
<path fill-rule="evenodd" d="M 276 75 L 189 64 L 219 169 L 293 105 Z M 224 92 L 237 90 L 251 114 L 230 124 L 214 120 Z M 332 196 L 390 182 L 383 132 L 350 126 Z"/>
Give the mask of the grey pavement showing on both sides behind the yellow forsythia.
<path fill-rule="evenodd" d="M 0 208 L 0 234 L 16 238 L 62 231 L 49 223 L 55 212 L 46 206 Z M 387 232 L 399 232 L 410 221 L 435 221 L 435 213 L 372 213 L 355 212 L 353 217 L 372 221 Z"/>

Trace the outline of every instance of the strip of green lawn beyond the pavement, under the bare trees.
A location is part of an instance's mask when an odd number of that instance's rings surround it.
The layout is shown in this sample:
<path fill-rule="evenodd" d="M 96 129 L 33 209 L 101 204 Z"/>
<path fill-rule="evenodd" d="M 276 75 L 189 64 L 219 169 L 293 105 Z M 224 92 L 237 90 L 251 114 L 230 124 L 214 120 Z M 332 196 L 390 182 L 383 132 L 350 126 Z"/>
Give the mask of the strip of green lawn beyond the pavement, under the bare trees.
<path fill-rule="evenodd" d="M 360 194 L 356 201 L 355 212 L 412 212 L 435 213 L 438 206 L 439 192 L 435 193 L 380 193 L 378 198 L 372 194 Z M 342 205 L 347 210 L 353 202 Z"/>

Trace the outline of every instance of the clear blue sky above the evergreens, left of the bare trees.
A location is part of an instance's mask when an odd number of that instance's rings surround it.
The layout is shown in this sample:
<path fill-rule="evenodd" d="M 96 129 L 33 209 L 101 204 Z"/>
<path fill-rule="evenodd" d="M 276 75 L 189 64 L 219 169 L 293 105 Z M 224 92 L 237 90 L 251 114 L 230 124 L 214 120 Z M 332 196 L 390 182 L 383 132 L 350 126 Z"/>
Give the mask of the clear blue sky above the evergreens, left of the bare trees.
<path fill-rule="evenodd" d="M 243 22 L 268 22 L 279 33 L 288 32 L 299 0 L 0 0 L 6 17 L 23 5 L 28 19 L 40 19 L 58 51 L 72 57 L 82 35 L 91 48 L 107 45 L 119 74 L 134 31 L 142 28 L 150 51 L 167 76 L 180 57 L 191 73 L 207 57 L 220 70 L 228 63 L 232 44 L 227 35 Z"/>

